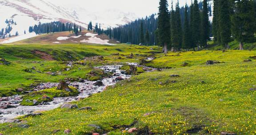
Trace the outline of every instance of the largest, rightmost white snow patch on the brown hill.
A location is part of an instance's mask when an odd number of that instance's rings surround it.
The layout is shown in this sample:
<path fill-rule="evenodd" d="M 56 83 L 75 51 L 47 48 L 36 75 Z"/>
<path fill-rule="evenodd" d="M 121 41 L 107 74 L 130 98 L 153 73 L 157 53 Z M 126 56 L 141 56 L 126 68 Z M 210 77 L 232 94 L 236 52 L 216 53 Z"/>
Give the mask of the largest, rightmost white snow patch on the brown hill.
<path fill-rule="evenodd" d="M 88 40 L 81 40 L 80 42 L 91 43 L 91 44 L 115 45 L 115 44 L 108 43 L 109 40 L 101 40 L 100 38 L 97 38 L 96 35 L 98 34 L 86 33 L 85 36 L 91 36 L 91 37 L 88 38 Z"/>

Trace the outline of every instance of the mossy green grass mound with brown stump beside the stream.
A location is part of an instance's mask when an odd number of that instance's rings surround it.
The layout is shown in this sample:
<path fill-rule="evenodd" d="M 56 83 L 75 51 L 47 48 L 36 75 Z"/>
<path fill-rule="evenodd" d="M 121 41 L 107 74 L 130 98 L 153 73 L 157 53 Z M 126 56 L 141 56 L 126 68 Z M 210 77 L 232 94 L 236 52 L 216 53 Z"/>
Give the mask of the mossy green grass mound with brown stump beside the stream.
<path fill-rule="evenodd" d="M 70 87 L 71 91 L 65 91 L 65 90 L 56 90 L 56 87 L 50 88 L 50 89 L 45 89 L 41 91 L 35 91 L 28 93 L 22 97 L 21 105 L 23 106 L 34 106 L 38 105 L 39 103 L 42 102 L 51 102 L 53 98 L 55 97 L 68 97 L 68 96 L 76 96 L 79 94 L 76 88 Z M 44 95 L 47 95 L 49 98 L 48 99 L 43 99 L 42 97 Z M 33 104 L 33 100 L 37 100 L 36 104 Z"/>

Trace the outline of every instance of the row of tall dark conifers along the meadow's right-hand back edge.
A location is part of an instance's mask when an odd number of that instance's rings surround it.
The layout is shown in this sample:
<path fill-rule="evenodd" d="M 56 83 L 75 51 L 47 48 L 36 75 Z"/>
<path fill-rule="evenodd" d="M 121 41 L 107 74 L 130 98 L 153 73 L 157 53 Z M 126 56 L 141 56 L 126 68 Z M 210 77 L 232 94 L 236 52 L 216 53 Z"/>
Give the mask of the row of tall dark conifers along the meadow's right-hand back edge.
<path fill-rule="evenodd" d="M 208 0 L 200 3 L 194 0 L 192 5 L 184 8 L 184 22 L 181 22 L 179 1 L 171 5 L 168 11 L 168 1 L 160 0 L 158 13 L 157 38 L 163 51 L 168 49 L 179 51 L 190 48 L 208 48 L 210 36 L 224 48 L 229 48 L 232 40 L 240 42 L 240 49 L 244 43 L 255 42 L 256 32 L 256 0 L 213 0 L 213 21 L 209 21 Z"/>

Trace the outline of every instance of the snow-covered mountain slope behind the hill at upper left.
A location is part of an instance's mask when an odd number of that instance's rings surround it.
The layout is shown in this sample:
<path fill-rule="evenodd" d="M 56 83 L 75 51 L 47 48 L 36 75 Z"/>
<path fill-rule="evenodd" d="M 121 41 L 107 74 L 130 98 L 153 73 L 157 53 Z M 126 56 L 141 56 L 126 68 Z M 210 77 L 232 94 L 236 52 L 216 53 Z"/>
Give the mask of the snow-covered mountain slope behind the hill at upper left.
<path fill-rule="evenodd" d="M 0 30 L 7 28 L 5 20 L 13 20 L 11 35 L 16 32 L 28 33 L 29 26 L 35 24 L 63 21 L 72 22 L 87 28 L 89 21 L 101 24 L 102 28 L 115 27 L 138 18 L 135 13 L 117 9 L 92 10 L 86 0 L 0 0 Z M 94 24 L 93 24 L 94 25 Z"/>

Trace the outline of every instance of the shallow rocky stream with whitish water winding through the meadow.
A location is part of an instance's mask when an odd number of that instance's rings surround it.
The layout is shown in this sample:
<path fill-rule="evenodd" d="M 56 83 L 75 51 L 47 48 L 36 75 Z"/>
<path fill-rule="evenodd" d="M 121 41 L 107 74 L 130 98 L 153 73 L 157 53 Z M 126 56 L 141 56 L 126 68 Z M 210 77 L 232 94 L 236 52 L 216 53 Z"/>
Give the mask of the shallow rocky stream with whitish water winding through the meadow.
<path fill-rule="evenodd" d="M 130 65 L 136 65 L 135 63 L 129 63 Z M 72 64 L 70 64 L 72 65 Z M 118 81 L 128 79 L 131 75 L 125 75 L 124 71 L 120 70 L 122 65 L 108 65 L 96 67 L 106 72 L 112 72 L 113 75 L 104 78 L 101 81 L 88 81 L 81 80 L 80 82 L 68 82 L 69 86 L 76 87 L 80 94 L 74 97 L 57 97 L 52 102 L 40 103 L 37 106 L 21 106 L 21 95 L 13 95 L 11 97 L 0 99 L 0 123 L 13 122 L 17 116 L 27 115 L 35 111 L 48 111 L 60 107 L 61 104 L 66 102 L 76 101 L 82 98 L 86 98 L 94 93 L 102 92 L 107 86 L 116 84 Z M 153 71 L 155 69 L 145 67 L 146 71 Z M 150 70 L 149 70 L 150 69 Z M 58 83 L 40 83 L 35 91 L 57 87 Z"/>

